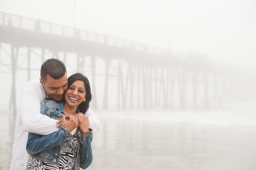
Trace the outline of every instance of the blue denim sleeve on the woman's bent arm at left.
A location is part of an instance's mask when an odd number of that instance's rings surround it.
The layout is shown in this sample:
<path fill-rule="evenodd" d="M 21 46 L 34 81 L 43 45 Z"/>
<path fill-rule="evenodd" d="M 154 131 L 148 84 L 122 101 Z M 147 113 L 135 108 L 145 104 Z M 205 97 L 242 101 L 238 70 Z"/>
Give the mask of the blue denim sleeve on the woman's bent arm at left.
<path fill-rule="evenodd" d="M 47 113 L 47 104 L 43 102 L 41 105 L 41 114 L 46 115 Z M 59 146 L 66 140 L 71 140 L 72 136 L 68 129 L 61 125 L 58 131 L 50 133 L 46 136 L 28 133 L 28 141 L 26 150 L 28 154 L 36 154 L 47 149 L 53 148 L 55 146 Z"/>

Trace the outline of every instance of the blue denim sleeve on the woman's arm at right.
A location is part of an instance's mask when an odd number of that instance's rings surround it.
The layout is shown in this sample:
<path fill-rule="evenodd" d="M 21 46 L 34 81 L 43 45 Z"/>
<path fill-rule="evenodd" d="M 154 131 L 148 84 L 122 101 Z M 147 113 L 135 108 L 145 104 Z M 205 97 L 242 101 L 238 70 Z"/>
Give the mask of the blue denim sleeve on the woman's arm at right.
<path fill-rule="evenodd" d="M 82 133 L 78 130 L 79 143 L 80 143 L 80 168 L 86 169 L 88 168 L 93 161 L 93 153 L 91 142 L 93 139 L 93 130 L 89 128 L 89 131 L 84 135 L 84 142 L 82 142 Z"/>

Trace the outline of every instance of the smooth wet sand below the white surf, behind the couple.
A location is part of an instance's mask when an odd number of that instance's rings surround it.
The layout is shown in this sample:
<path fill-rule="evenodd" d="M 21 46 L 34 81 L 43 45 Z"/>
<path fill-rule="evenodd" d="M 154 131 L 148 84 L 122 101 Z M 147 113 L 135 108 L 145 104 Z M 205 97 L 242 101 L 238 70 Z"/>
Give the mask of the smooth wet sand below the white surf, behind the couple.
<path fill-rule="evenodd" d="M 10 168 L 12 114 L 0 117 L 0 170 Z M 100 118 L 88 170 L 255 170 L 256 127 Z"/>

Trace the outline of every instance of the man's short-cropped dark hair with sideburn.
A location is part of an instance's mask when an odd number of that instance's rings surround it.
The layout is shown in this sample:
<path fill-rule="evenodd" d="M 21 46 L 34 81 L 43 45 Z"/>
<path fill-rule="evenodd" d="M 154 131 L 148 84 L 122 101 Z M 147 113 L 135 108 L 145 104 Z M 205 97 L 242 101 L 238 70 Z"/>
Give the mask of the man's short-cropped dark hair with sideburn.
<path fill-rule="evenodd" d="M 65 64 L 56 58 L 46 60 L 41 66 L 40 76 L 42 81 L 45 83 L 46 75 L 48 74 L 51 78 L 56 80 L 62 78 L 67 72 Z"/>

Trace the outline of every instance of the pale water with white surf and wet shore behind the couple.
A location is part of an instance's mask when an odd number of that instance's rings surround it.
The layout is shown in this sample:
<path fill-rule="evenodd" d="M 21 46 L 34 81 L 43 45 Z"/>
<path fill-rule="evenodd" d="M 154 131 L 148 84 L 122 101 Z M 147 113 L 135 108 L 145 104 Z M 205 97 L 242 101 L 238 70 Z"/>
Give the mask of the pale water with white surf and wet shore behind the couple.
<path fill-rule="evenodd" d="M 256 101 L 222 108 L 97 110 L 88 170 L 255 170 Z M 0 170 L 10 168 L 16 119 L 0 111 Z"/>

